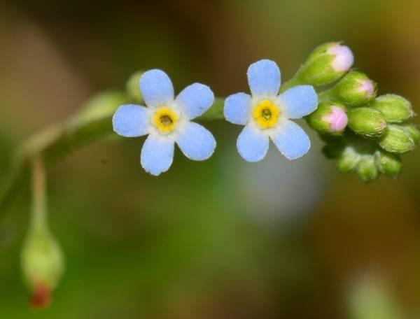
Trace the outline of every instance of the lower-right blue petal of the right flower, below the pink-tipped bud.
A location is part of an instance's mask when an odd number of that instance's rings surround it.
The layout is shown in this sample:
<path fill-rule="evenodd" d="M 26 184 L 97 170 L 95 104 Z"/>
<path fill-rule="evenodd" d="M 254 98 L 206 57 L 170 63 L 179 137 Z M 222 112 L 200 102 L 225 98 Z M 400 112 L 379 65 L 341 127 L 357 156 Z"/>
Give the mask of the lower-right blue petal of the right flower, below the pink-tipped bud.
<path fill-rule="evenodd" d="M 304 130 L 289 120 L 279 125 L 270 137 L 288 160 L 302 157 L 311 148 L 311 141 Z"/>

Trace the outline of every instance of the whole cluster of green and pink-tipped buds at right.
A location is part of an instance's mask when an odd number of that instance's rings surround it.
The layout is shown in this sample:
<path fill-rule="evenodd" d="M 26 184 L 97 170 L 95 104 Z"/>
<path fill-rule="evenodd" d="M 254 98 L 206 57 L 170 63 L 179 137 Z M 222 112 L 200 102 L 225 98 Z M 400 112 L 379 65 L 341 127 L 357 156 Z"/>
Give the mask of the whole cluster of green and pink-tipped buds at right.
<path fill-rule="evenodd" d="M 409 122 L 415 115 L 412 105 L 395 94 L 377 97 L 377 83 L 350 71 L 352 64 L 351 51 L 340 43 L 321 45 L 310 55 L 299 71 L 302 74 L 295 76 L 300 83 L 338 82 L 318 94 L 320 104 L 307 122 L 326 142 L 324 153 L 337 160 L 339 171 L 356 171 L 365 182 L 376 180 L 380 173 L 398 176 L 400 155 L 420 141 L 419 129 Z"/>

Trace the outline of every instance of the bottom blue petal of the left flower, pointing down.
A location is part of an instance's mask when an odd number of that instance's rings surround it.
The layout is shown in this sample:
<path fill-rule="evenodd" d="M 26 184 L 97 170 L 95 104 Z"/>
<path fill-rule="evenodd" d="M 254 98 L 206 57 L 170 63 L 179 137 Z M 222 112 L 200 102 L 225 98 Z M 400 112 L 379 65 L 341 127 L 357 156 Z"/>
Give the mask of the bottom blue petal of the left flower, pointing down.
<path fill-rule="evenodd" d="M 166 136 L 149 135 L 141 149 L 141 166 L 158 176 L 169 169 L 174 160 L 174 141 Z"/>

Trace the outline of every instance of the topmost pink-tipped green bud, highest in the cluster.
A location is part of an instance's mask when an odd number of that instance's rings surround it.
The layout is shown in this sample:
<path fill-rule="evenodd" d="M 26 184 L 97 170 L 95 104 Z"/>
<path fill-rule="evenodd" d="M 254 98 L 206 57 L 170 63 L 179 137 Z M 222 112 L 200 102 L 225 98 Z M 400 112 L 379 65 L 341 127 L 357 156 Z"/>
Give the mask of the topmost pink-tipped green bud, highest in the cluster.
<path fill-rule="evenodd" d="M 309 55 L 296 77 L 300 83 L 326 85 L 344 76 L 353 62 L 353 53 L 348 47 L 337 42 L 325 43 Z"/>

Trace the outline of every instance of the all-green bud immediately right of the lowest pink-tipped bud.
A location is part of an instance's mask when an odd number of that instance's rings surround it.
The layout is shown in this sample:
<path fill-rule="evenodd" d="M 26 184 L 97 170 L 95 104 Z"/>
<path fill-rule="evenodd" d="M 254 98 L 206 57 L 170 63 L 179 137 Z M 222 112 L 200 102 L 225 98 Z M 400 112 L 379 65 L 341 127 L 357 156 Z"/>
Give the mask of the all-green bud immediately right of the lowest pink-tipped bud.
<path fill-rule="evenodd" d="M 364 136 L 379 136 L 386 129 L 384 115 L 374 108 L 352 108 L 347 112 L 349 127 L 356 134 Z"/>

